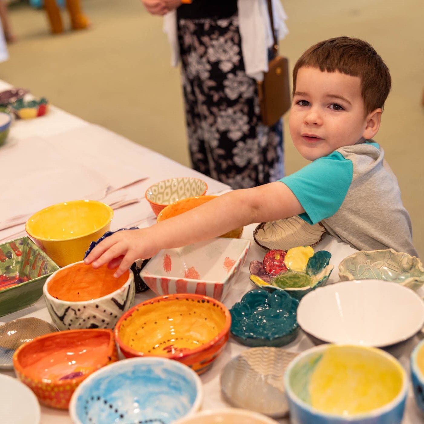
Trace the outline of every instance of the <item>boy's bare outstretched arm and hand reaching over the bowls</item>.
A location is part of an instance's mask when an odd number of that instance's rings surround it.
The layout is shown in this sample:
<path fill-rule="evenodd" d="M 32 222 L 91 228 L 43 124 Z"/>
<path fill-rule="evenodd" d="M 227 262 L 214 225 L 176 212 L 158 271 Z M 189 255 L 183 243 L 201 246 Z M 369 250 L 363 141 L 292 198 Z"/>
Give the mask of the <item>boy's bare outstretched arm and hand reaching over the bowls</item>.
<path fill-rule="evenodd" d="M 99 243 L 84 262 L 98 268 L 109 263 L 122 275 L 137 259 L 159 250 L 185 246 L 218 237 L 251 223 L 287 218 L 304 212 L 293 192 L 276 181 L 234 190 L 181 215 L 139 230 L 120 231 Z"/>

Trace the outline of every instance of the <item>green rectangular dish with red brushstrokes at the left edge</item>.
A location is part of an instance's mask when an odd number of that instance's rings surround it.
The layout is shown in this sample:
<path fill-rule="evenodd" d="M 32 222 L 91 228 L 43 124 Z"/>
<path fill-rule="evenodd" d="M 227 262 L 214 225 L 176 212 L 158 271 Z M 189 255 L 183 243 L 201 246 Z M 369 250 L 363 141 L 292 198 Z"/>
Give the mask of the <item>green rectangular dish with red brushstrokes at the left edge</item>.
<path fill-rule="evenodd" d="M 0 316 L 35 303 L 59 267 L 29 238 L 0 245 Z"/>

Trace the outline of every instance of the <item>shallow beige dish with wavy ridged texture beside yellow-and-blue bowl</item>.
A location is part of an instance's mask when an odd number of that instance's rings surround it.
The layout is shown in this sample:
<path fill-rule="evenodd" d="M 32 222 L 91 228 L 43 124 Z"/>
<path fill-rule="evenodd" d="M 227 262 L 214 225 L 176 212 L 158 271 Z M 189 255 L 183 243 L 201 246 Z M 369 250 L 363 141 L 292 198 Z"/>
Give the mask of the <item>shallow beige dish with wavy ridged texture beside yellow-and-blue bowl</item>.
<path fill-rule="evenodd" d="M 223 368 L 221 392 L 232 406 L 281 418 L 289 407 L 284 373 L 298 353 L 275 347 L 247 349 Z M 254 389 L 252 389 L 254 388 Z"/>

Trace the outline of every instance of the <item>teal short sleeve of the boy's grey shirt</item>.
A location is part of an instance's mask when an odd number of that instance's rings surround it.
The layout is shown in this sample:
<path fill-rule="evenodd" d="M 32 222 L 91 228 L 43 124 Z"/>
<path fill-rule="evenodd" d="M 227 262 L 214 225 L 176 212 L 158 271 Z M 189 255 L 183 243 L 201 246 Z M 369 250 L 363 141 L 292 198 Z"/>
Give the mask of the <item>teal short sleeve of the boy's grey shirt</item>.
<path fill-rule="evenodd" d="M 312 224 L 334 215 L 343 203 L 353 176 L 351 160 L 337 151 L 280 179 L 296 196 L 305 213 L 300 218 Z"/>

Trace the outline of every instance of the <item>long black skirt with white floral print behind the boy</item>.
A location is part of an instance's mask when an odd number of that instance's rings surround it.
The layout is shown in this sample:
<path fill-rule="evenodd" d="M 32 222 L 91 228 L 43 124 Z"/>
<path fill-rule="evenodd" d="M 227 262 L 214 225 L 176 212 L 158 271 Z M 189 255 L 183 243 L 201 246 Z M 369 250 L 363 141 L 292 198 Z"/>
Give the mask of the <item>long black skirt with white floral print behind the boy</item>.
<path fill-rule="evenodd" d="M 180 19 L 178 28 L 192 167 L 234 189 L 282 178 L 282 120 L 261 123 L 238 17 Z"/>

